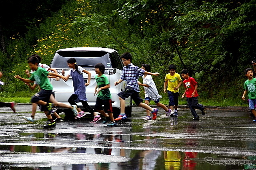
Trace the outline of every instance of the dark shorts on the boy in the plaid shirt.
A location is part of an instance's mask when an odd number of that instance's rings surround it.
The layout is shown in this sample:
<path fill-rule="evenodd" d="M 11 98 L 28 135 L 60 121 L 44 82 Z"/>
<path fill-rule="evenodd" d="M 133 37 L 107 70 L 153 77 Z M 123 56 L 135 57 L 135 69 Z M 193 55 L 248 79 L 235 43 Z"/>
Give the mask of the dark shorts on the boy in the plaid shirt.
<path fill-rule="evenodd" d="M 131 96 L 132 100 L 135 102 L 137 106 L 139 106 L 139 104 L 143 102 L 143 99 L 140 98 L 139 92 L 132 90 L 131 87 L 124 88 L 124 90 L 118 93 L 117 95 L 123 100 Z"/>

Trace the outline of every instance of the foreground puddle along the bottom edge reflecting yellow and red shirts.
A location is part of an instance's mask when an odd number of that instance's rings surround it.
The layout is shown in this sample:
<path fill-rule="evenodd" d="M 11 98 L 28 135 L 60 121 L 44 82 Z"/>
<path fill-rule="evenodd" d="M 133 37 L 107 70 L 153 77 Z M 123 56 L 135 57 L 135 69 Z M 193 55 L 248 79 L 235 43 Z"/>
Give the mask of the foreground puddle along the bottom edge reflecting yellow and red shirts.
<path fill-rule="evenodd" d="M 0 145 L 1 170 L 232 170 L 256 168 L 256 156 L 170 150 Z"/>

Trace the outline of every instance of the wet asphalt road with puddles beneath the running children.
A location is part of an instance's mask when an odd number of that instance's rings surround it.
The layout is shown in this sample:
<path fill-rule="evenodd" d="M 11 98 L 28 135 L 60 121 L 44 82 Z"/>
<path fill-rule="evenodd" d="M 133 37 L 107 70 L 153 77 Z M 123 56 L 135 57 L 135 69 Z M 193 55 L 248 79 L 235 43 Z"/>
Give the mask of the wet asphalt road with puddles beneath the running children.
<path fill-rule="evenodd" d="M 31 108 L 17 105 L 15 114 L 0 108 L 1 170 L 256 167 L 256 123 L 245 109 L 206 109 L 204 116 L 198 110 L 198 121 L 186 108 L 167 119 L 159 109 L 155 121 L 145 121 L 144 109 L 132 107 L 132 116 L 116 127 L 90 123 L 92 117 L 85 117 L 45 129 L 44 113 L 36 113 L 35 123 L 22 119 Z"/>

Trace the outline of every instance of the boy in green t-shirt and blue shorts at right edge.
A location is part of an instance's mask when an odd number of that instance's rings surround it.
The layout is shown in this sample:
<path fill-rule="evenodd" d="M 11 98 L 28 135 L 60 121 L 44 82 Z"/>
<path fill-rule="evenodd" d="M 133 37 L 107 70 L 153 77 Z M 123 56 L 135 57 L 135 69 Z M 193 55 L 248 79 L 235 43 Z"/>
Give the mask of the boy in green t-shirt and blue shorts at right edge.
<path fill-rule="evenodd" d="M 252 114 L 256 117 L 256 111 L 255 111 L 255 104 L 256 104 L 256 78 L 253 77 L 253 71 L 252 68 L 246 68 L 244 71 L 245 76 L 248 77 L 248 80 L 244 82 L 244 94 L 242 96 L 242 99 L 245 100 L 245 95 L 248 92 L 248 98 L 249 98 L 249 108 L 250 111 L 252 111 Z M 253 120 L 256 122 L 256 119 Z"/>

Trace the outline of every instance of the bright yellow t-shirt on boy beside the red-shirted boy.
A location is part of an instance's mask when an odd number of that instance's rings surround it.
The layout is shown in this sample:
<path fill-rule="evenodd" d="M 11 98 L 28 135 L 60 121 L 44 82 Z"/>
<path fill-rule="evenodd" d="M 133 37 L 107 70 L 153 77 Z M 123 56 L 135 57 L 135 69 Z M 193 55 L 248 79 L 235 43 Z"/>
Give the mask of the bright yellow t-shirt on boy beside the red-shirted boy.
<path fill-rule="evenodd" d="M 168 91 L 171 91 L 174 93 L 180 91 L 179 89 L 174 90 L 174 88 L 177 87 L 179 82 L 181 81 L 180 74 L 175 72 L 174 75 L 172 76 L 170 73 L 168 73 L 165 75 L 164 81 L 167 81 L 167 80 L 168 80 L 168 86 L 167 86 Z"/>

